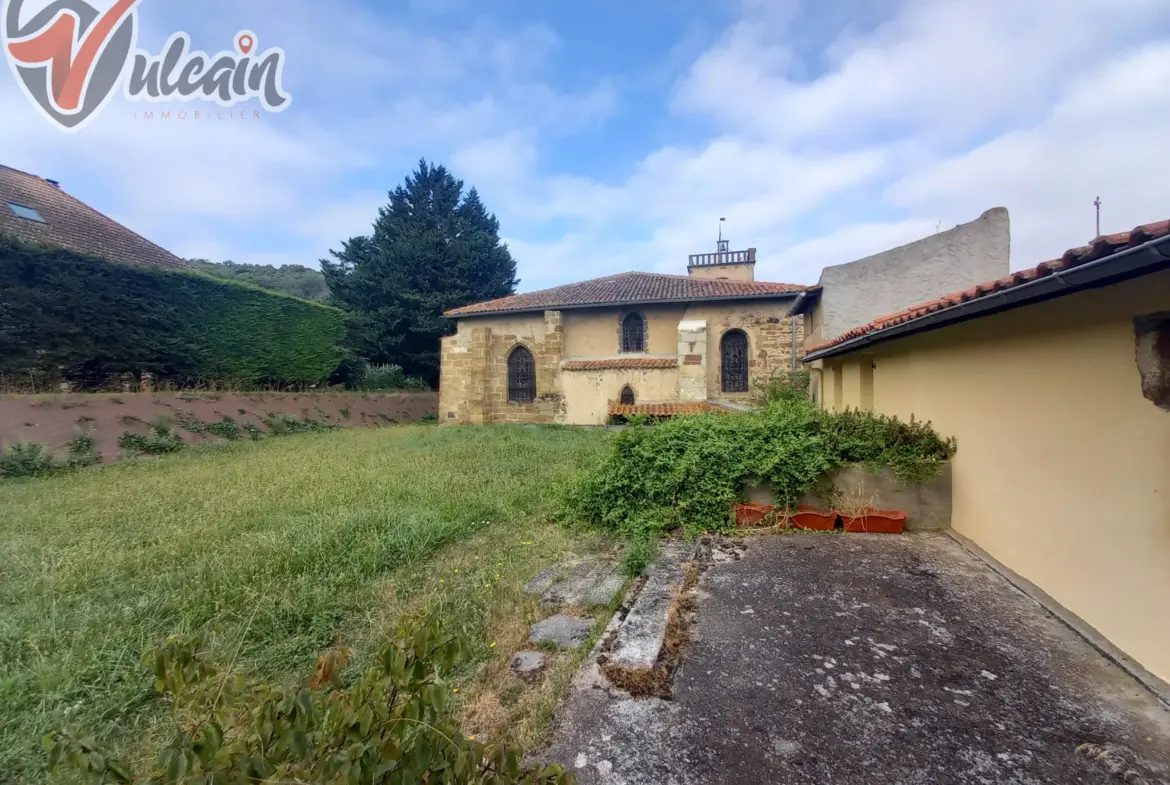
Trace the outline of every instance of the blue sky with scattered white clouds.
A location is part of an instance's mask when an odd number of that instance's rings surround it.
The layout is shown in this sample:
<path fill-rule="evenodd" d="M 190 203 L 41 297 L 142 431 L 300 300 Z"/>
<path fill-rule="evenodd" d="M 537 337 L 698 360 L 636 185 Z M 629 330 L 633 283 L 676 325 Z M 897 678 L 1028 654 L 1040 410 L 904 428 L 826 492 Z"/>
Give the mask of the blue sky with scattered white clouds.
<path fill-rule="evenodd" d="M 118 96 L 67 135 L 4 69 L 0 163 L 185 257 L 316 266 L 420 157 L 479 188 L 522 291 L 684 274 L 721 216 L 757 280 L 791 283 L 996 206 L 1013 270 L 1090 240 L 1097 197 L 1103 233 L 1170 218 L 1170 0 L 143 0 L 138 19 L 152 53 L 255 32 L 292 104 L 180 123 Z"/>

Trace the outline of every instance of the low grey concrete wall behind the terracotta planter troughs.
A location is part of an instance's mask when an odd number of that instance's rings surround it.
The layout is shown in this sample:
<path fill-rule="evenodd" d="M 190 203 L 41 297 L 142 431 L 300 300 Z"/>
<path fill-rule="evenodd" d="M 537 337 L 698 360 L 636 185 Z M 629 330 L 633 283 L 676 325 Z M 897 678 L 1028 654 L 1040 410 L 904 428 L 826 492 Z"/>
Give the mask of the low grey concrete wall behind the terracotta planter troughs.
<path fill-rule="evenodd" d="M 951 466 L 945 463 L 942 473 L 920 486 L 900 486 L 889 469 L 873 474 L 865 467 L 848 466 L 833 475 L 833 487 L 845 498 L 863 501 L 879 510 L 906 512 L 906 528 L 910 531 L 950 529 L 951 516 Z M 772 504 L 769 488 L 749 488 L 745 501 L 756 504 Z M 825 507 L 818 494 L 805 494 L 801 504 Z"/>

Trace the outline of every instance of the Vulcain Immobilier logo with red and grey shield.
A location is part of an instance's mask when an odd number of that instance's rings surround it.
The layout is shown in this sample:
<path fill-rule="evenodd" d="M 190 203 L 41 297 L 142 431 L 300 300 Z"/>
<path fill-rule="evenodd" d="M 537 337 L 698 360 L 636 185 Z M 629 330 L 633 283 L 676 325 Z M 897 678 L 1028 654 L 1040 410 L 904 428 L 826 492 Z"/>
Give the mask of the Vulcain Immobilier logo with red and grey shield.
<path fill-rule="evenodd" d="M 43 1 L 43 0 L 42 0 Z M 234 48 L 207 55 L 176 33 L 152 55 L 136 49 L 138 6 L 116 0 L 98 11 L 87 0 L 2 0 L 0 33 L 16 81 L 41 113 L 66 131 L 89 123 L 122 85 L 130 101 L 207 101 L 233 106 L 256 98 L 268 111 L 288 109 L 284 50 L 257 51 L 256 34 L 241 30 Z"/>

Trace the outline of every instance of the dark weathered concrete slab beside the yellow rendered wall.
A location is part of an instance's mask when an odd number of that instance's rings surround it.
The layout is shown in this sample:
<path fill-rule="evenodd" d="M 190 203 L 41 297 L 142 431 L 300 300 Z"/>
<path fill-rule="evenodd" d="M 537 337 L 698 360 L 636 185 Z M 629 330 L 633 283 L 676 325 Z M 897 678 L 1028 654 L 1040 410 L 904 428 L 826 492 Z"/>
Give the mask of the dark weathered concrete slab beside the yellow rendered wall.
<path fill-rule="evenodd" d="M 1170 784 L 1170 711 L 940 535 L 714 558 L 673 700 L 590 662 L 541 756 L 581 785 Z"/>

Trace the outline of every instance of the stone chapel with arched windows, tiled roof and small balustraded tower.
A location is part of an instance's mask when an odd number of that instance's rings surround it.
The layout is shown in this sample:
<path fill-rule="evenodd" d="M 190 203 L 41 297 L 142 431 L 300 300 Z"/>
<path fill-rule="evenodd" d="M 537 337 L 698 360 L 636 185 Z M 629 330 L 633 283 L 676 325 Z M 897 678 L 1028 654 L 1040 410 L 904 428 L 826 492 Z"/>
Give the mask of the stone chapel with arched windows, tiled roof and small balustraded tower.
<path fill-rule="evenodd" d="M 690 257 L 688 275 L 621 273 L 448 311 L 440 419 L 601 425 L 745 402 L 796 366 L 805 287 L 755 280 L 756 249 Z"/>

